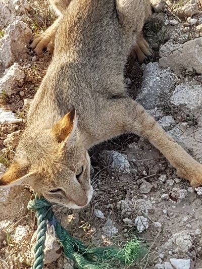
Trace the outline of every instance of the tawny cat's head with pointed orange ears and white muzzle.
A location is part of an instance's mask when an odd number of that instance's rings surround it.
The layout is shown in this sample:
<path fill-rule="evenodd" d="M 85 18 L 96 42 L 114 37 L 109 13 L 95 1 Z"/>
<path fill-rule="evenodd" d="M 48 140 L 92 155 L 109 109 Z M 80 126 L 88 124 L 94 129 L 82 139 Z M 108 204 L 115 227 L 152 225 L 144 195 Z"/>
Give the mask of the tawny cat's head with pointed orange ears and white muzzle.
<path fill-rule="evenodd" d="M 30 185 L 52 203 L 70 208 L 87 205 L 93 192 L 90 158 L 79 137 L 75 110 L 52 129 L 35 129 L 25 131 L 0 187 Z"/>

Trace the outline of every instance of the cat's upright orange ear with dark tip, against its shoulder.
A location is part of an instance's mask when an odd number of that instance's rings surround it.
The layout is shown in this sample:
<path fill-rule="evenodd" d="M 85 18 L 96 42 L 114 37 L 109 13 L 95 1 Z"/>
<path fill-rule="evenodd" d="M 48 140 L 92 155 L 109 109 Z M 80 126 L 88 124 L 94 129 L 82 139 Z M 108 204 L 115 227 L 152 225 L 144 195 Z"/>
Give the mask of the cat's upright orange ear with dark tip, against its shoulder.
<path fill-rule="evenodd" d="M 56 140 L 63 145 L 71 146 L 77 140 L 77 118 L 76 111 L 73 109 L 67 113 L 60 121 L 58 121 L 53 129 L 52 133 Z"/>

